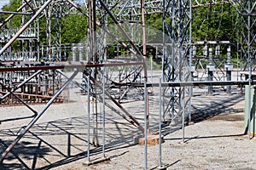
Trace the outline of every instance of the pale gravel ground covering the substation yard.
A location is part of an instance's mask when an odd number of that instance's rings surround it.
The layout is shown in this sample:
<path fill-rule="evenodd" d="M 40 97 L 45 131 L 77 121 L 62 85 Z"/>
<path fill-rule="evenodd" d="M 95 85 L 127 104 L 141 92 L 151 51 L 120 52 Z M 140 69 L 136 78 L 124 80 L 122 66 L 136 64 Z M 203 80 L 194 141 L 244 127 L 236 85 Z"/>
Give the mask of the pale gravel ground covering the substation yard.
<path fill-rule="evenodd" d="M 158 89 L 154 89 L 155 92 Z M 164 126 L 165 143 L 162 147 L 162 164 L 167 169 L 256 169 L 254 149 L 256 140 L 244 135 L 244 94 L 225 95 L 216 91 L 205 94 L 205 88 L 196 88 L 192 100 L 192 120 L 185 127 L 185 139 L 179 126 Z M 150 129 L 157 132 L 158 97 L 150 96 Z M 35 126 L 5 158 L 0 169 L 144 169 L 144 146 L 133 143 L 141 133 L 137 127 L 125 122 L 119 115 L 106 109 L 106 153 L 109 161 L 88 167 L 86 96 L 70 93 L 71 101 L 51 105 Z M 95 101 L 90 101 L 93 103 Z M 109 105 L 112 105 L 107 100 Z M 123 103 L 143 125 L 143 100 Z M 101 106 L 101 105 L 100 105 Z M 37 111 L 42 105 L 33 105 Z M 1 120 L 15 121 L 0 124 L 0 153 L 31 119 L 24 106 L 2 107 Z M 91 108 L 93 110 L 95 108 Z M 116 108 L 117 109 L 117 108 Z M 102 122 L 99 115 L 98 122 Z M 98 126 L 99 147 L 94 147 L 93 119 L 90 120 L 90 161 L 102 159 L 102 125 Z M 148 145 L 148 169 L 159 165 L 159 146 Z"/>

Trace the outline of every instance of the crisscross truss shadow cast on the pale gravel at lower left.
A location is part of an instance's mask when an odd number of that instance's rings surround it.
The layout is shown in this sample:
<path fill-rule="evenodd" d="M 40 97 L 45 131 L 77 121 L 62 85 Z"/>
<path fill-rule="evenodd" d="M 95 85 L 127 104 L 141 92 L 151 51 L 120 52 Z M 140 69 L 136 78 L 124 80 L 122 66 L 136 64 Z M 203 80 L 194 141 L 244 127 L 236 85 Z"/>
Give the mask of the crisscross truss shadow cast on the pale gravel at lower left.
<path fill-rule="evenodd" d="M 116 122 L 111 116 L 106 122 L 105 151 L 131 147 L 137 129 L 128 122 Z M 0 169 L 51 169 L 87 157 L 87 118 L 76 116 L 51 122 L 36 124 L 15 145 L 0 163 Z M 91 124 L 90 161 L 102 157 L 102 146 L 93 145 Z M 0 130 L 0 154 L 11 144 L 19 133 L 19 128 Z M 102 128 L 98 129 L 102 141 Z M 102 142 L 100 142 L 102 144 Z M 119 153 L 112 157 L 124 155 Z M 86 159 L 84 159 L 86 161 Z"/>

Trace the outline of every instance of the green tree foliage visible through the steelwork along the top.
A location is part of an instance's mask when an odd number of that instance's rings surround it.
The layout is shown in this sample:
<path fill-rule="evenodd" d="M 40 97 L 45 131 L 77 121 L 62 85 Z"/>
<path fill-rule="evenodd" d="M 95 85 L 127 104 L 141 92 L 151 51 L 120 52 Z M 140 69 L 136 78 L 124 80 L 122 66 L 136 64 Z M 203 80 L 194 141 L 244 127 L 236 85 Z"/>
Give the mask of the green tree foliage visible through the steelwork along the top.
<path fill-rule="evenodd" d="M 16 11 L 20 7 L 20 0 L 11 0 L 8 5 L 3 7 L 5 11 Z M 117 13 L 118 10 L 112 10 L 113 13 Z M 4 20 L 8 17 L 8 14 L 1 14 L 0 20 Z M 232 44 L 236 44 L 236 28 L 239 23 L 236 22 L 236 9 L 232 8 L 230 4 L 224 5 L 212 5 L 210 7 L 193 8 L 192 10 L 192 41 L 214 40 L 214 41 L 226 41 L 230 40 Z M 147 42 L 161 42 L 161 32 L 163 30 L 162 14 L 147 14 L 146 17 L 146 41 Z M 129 20 L 129 18 L 127 18 Z M 172 18 L 166 18 L 167 23 L 172 23 Z M 40 23 L 40 43 L 46 44 L 46 20 L 44 17 L 39 19 Z M 127 41 L 121 35 L 119 29 L 116 26 L 111 27 L 113 20 L 108 20 L 108 30 L 119 37 L 122 41 Z M 15 16 L 9 23 L 11 27 L 20 27 L 20 15 Z M 124 26 L 124 24 L 123 24 Z M 134 26 L 134 30 L 141 30 L 141 26 Z M 124 26 L 125 31 L 129 36 L 136 39 L 137 44 L 142 44 L 142 31 L 131 31 L 131 26 Z M 83 15 L 67 15 L 61 19 L 61 42 L 65 44 L 78 43 L 84 40 L 87 36 L 87 18 Z M 110 38 L 108 38 L 110 39 Z M 109 40 L 108 40 L 109 41 Z M 116 41 L 110 41 L 108 44 L 118 44 Z M 232 51 L 236 51 L 235 45 L 232 47 Z M 113 57 L 117 52 L 112 45 L 108 46 L 108 56 Z M 125 49 L 121 49 L 125 53 Z M 148 55 L 153 55 L 150 49 L 147 48 Z M 199 53 L 200 50 L 199 50 Z M 232 53 L 235 57 L 236 54 Z M 224 56 L 225 57 L 225 56 Z M 235 57 L 236 58 L 236 57 Z"/>

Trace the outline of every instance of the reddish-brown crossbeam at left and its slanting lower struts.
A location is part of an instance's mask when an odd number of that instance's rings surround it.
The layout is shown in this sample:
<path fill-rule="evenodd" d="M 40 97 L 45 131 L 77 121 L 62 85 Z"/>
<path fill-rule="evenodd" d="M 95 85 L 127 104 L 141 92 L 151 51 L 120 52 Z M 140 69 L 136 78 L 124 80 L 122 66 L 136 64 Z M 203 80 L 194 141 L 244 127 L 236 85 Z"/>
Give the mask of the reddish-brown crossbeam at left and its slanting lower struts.
<path fill-rule="evenodd" d="M 32 116 L 32 121 L 29 122 L 24 127 L 22 132 L 16 137 L 15 141 L 12 144 L 10 144 L 9 147 L 3 152 L 0 162 L 3 161 L 4 157 L 7 156 L 7 154 L 15 146 L 15 144 L 17 144 L 19 142 L 19 140 L 27 133 L 27 131 L 38 121 L 40 116 L 44 115 L 44 112 L 49 108 L 49 105 L 51 105 L 55 101 L 55 99 L 58 99 L 61 92 L 67 87 L 67 85 L 70 82 L 73 82 L 80 88 L 84 89 L 84 87 L 82 87 L 79 82 L 74 81 L 74 77 L 77 76 L 79 71 L 83 71 L 84 68 L 86 68 L 86 67 L 87 68 L 100 68 L 100 67 L 115 67 L 115 66 L 119 66 L 119 65 L 124 65 L 124 66 L 125 65 L 126 66 L 128 66 L 128 65 L 143 65 L 143 62 L 140 62 L 140 63 L 132 62 L 132 63 L 84 64 L 84 65 L 81 65 L 78 63 L 73 63 L 73 65 L 70 65 L 70 63 L 68 63 L 68 62 L 62 62 L 62 63 L 59 63 L 58 65 L 40 65 L 40 66 L 38 65 L 38 66 L 20 67 L 20 68 L 11 68 L 11 67 L 8 67 L 8 65 L 6 65 L 6 67 L 0 68 L 0 72 L 35 71 L 31 77 L 27 77 L 24 81 L 20 82 L 20 84 L 18 84 L 16 87 L 8 88 L 8 93 L 4 94 L 0 99 L 0 100 L 3 100 L 5 98 L 7 98 L 9 95 L 14 95 L 14 97 L 16 99 L 20 100 L 20 102 L 23 105 L 25 105 L 30 111 L 32 111 L 34 113 L 34 116 Z M 65 73 L 63 73 L 63 71 L 62 71 L 63 69 L 76 69 L 76 71 L 73 72 L 73 75 L 71 77 L 67 77 L 65 75 Z M 33 78 L 37 77 L 42 71 L 58 72 L 61 75 L 61 77 L 63 78 L 63 82 L 61 83 L 61 87 L 55 90 L 55 94 L 53 94 L 53 96 L 47 101 L 44 108 L 41 111 L 35 111 L 31 105 L 26 104 L 24 99 L 20 99 L 20 97 L 17 94 L 15 94 L 15 92 L 20 90 L 20 88 L 22 88 L 27 82 L 29 82 Z M 103 89 L 102 82 L 99 82 L 94 77 L 91 77 L 90 72 L 85 71 L 84 74 L 86 74 L 86 76 L 90 77 L 90 81 L 93 82 L 93 84 L 96 86 L 96 88 L 100 88 L 101 90 Z M 120 105 L 118 101 L 116 101 L 116 99 L 113 99 L 111 94 L 108 94 L 108 92 L 105 92 L 105 94 L 108 96 L 109 99 L 111 99 L 113 101 L 113 105 L 117 105 L 119 107 L 119 109 L 121 111 L 123 111 L 123 113 L 117 112 L 117 114 L 119 114 L 119 116 L 123 117 L 127 122 L 130 122 L 132 125 L 134 125 L 139 130 L 144 132 L 144 128 L 141 126 L 141 124 L 139 122 L 137 122 L 137 120 L 133 116 L 131 116 L 131 114 L 128 111 L 126 111 L 125 108 L 122 105 Z M 98 98 L 100 98 L 100 100 L 102 99 L 102 97 L 100 97 L 100 96 Z M 110 109 L 113 109 L 113 107 L 111 105 L 109 107 L 110 107 Z"/>

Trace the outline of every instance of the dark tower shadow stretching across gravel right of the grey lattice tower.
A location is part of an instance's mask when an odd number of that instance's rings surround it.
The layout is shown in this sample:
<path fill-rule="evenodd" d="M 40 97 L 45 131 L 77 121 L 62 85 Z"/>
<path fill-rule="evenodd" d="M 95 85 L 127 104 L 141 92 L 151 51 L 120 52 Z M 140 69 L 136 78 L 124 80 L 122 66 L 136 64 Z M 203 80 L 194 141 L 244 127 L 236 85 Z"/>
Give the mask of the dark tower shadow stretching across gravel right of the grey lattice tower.
<path fill-rule="evenodd" d="M 211 120 L 224 120 L 230 122 L 242 121 L 243 116 L 235 116 L 234 113 L 241 113 L 244 109 L 236 109 L 236 104 L 244 100 L 244 94 L 234 94 L 223 96 L 221 94 L 215 96 L 200 96 L 193 98 L 191 106 L 192 123 L 202 122 L 211 118 Z M 220 116 L 220 114 L 223 114 Z M 185 120 L 185 126 L 189 125 L 188 119 Z M 159 131 L 159 125 L 154 125 L 156 133 Z M 171 125 L 171 121 L 163 122 L 162 134 L 164 136 L 174 133 L 182 128 L 182 122 Z M 239 134 L 240 135 L 240 134 Z M 217 137 L 216 137 L 217 138 Z"/>

